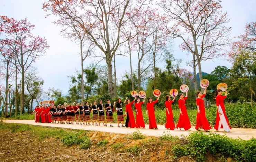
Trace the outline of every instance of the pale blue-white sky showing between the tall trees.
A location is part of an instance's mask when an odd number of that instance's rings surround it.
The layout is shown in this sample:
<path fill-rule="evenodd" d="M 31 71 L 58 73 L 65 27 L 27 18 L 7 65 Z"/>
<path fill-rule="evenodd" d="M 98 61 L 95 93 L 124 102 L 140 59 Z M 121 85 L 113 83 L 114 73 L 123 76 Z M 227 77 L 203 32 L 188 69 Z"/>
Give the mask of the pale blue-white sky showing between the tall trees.
<path fill-rule="evenodd" d="M 31 24 L 35 25 L 32 31 L 35 36 L 45 37 L 47 44 L 50 46 L 44 57 L 33 65 L 37 68 L 38 75 L 44 80 L 44 89 L 54 87 L 62 90 L 66 94 L 70 87 L 70 78 L 67 76 L 75 75 L 76 70 L 81 69 L 81 59 L 79 55 L 79 46 L 74 42 L 65 39 L 61 36 L 61 27 L 52 23 L 57 18 L 54 16 L 46 17 L 46 12 L 43 11 L 43 0 L 1 0 L 0 15 L 5 15 L 15 20 L 27 18 Z M 244 33 L 245 24 L 247 22 L 256 21 L 255 0 L 223 0 L 221 2 L 222 11 L 227 11 L 230 18 L 227 26 L 232 27 L 231 37 L 237 37 Z M 186 68 L 189 71 L 193 69 L 186 66 L 186 60 L 191 60 L 190 55 L 181 52 L 179 40 L 173 41 L 174 57 L 182 59 L 181 68 Z M 119 64 L 116 64 L 117 77 L 120 78 L 125 71 L 129 71 L 129 65 L 122 64 L 128 57 L 118 57 Z M 84 62 L 84 67 L 93 62 L 93 59 Z M 106 64 L 102 62 L 102 64 Z M 136 63 L 132 64 L 132 68 L 137 68 Z M 225 61 L 225 58 L 217 58 L 202 62 L 202 71 L 211 73 L 216 66 L 227 66 L 231 68 L 231 64 Z"/>

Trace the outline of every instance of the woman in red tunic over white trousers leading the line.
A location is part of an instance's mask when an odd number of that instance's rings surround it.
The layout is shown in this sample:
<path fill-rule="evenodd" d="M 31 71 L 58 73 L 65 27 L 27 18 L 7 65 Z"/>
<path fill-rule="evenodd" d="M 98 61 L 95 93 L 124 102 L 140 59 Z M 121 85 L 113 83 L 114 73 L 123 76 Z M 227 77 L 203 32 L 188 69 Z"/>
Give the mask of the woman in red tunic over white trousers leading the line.
<path fill-rule="evenodd" d="M 222 96 L 222 90 L 217 90 L 218 95 L 216 96 L 216 106 L 217 106 L 217 115 L 216 115 L 216 125 L 214 129 L 218 131 L 220 128 L 223 128 L 225 132 L 230 132 L 230 125 L 228 122 L 228 117 L 225 111 L 224 99 L 227 98 L 227 90 L 225 89 L 225 95 Z"/>

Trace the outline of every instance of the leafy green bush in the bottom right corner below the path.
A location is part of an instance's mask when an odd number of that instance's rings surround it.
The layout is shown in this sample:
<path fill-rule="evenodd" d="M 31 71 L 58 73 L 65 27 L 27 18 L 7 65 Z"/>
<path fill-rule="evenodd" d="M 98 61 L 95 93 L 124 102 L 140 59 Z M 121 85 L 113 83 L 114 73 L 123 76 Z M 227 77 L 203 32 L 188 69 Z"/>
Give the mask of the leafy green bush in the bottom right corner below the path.
<path fill-rule="evenodd" d="M 221 154 L 234 158 L 237 161 L 256 161 L 256 140 L 232 139 L 220 134 L 204 134 L 193 132 L 188 136 L 189 143 L 176 144 L 172 147 L 172 153 L 178 158 L 192 156 L 197 161 L 205 161 L 205 155 L 209 152 L 213 156 Z"/>

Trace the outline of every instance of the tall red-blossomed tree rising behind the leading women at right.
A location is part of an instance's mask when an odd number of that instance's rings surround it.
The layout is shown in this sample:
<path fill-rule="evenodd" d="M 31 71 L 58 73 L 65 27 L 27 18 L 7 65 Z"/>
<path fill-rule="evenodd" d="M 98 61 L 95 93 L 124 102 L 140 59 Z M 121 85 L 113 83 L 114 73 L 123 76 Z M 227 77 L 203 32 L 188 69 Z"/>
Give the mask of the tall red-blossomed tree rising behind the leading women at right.
<path fill-rule="evenodd" d="M 221 12 L 220 0 L 161 0 L 158 4 L 170 19 L 166 28 L 173 38 L 182 39 L 180 47 L 193 55 L 193 66 L 198 66 L 202 80 L 201 61 L 220 56 L 220 47 L 230 41 L 227 12 Z"/>

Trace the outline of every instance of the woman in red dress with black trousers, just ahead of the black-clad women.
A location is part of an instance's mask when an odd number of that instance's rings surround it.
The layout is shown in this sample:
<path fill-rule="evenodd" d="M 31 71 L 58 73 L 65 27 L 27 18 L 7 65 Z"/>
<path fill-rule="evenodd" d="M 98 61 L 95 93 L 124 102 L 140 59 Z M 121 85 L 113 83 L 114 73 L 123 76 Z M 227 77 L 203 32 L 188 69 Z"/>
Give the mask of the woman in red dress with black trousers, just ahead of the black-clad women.
<path fill-rule="evenodd" d="M 126 116 L 126 112 L 127 112 L 125 127 L 134 128 L 136 126 L 135 120 L 134 120 L 134 115 L 133 115 L 132 108 L 131 108 L 131 105 L 135 102 L 135 99 L 136 99 L 136 97 L 134 98 L 134 100 L 132 102 L 130 102 L 130 99 L 128 99 L 127 104 L 125 105 L 125 116 Z"/>

